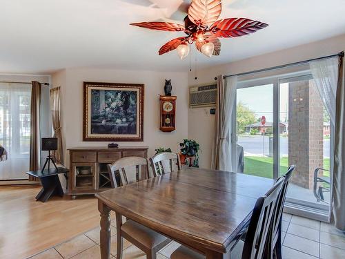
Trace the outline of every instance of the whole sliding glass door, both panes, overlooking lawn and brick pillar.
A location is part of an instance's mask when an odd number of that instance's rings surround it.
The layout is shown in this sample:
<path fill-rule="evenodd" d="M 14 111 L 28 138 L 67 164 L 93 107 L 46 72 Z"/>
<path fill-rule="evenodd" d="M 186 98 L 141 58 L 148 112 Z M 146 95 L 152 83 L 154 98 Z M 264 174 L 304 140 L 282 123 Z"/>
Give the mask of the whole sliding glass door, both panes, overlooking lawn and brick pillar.
<path fill-rule="evenodd" d="M 313 77 L 240 81 L 236 99 L 238 171 L 277 179 L 295 164 L 288 206 L 297 214 L 328 218 L 333 136 Z"/>

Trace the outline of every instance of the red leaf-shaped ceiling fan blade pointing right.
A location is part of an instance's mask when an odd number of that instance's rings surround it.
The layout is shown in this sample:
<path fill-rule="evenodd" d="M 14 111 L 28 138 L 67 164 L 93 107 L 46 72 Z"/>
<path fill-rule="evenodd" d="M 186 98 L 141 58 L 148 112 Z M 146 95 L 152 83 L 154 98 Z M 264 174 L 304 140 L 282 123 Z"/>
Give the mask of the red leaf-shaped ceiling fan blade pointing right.
<path fill-rule="evenodd" d="M 215 37 L 230 38 L 248 35 L 267 26 L 266 23 L 247 18 L 227 18 L 213 23 L 210 31 L 214 33 Z"/>

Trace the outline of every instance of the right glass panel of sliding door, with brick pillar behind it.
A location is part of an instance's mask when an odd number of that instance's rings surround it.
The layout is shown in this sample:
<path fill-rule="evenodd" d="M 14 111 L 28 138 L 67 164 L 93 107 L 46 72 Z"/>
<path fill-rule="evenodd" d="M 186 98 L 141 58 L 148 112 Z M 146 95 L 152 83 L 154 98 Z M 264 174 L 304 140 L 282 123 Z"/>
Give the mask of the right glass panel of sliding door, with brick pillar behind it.
<path fill-rule="evenodd" d="M 296 170 L 288 201 L 296 208 L 328 213 L 330 202 L 330 119 L 311 75 L 279 80 L 279 123 L 288 131 L 279 134 L 279 175 L 288 164 Z"/>

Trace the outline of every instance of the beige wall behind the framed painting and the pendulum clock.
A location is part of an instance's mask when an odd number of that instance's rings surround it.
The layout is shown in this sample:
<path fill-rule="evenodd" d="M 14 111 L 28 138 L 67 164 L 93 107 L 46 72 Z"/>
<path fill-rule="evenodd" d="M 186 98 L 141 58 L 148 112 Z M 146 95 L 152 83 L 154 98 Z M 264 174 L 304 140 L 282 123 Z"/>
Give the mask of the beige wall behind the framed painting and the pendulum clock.
<path fill-rule="evenodd" d="M 159 131 L 159 97 L 164 95 L 164 79 L 172 81 L 172 95 L 177 95 L 177 129 L 172 133 Z M 66 148 L 106 146 L 108 142 L 83 142 L 83 81 L 145 84 L 144 142 L 119 142 L 121 146 L 149 146 L 153 155 L 159 146 L 178 151 L 178 142 L 188 136 L 187 73 L 153 72 L 145 70 L 112 70 L 73 68 L 52 75 L 53 86 L 62 89 L 62 128 Z M 67 154 L 66 154 L 67 155 Z M 65 155 L 65 157 L 66 157 Z M 68 161 L 65 162 L 68 164 Z"/>

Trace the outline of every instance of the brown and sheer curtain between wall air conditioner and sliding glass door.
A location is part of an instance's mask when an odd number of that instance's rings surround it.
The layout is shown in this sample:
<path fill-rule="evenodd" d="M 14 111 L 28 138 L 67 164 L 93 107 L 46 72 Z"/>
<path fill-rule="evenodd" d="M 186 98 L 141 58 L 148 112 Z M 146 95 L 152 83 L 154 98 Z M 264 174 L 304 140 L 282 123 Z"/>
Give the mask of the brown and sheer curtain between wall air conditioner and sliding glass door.
<path fill-rule="evenodd" d="M 231 122 L 237 87 L 237 76 L 228 77 L 224 84 L 223 75 L 217 80 L 217 102 L 215 118 L 215 140 L 213 142 L 212 169 L 236 171 L 231 152 Z"/>

